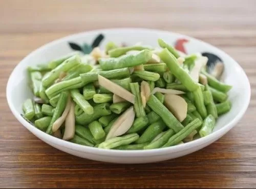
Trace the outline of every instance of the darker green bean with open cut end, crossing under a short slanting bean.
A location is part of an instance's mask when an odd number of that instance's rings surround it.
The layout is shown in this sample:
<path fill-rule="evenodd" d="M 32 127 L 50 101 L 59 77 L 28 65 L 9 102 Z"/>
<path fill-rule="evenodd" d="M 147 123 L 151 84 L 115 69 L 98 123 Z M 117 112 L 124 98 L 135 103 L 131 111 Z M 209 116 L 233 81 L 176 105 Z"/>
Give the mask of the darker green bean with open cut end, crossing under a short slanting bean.
<path fill-rule="evenodd" d="M 95 120 L 98 120 L 100 117 L 105 115 L 110 115 L 112 112 L 109 109 L 110 105 L 108 103 L 101 103 L 94 106 L 93 114 L 89 115 L 86 112 L 83 112 L 81 115 L 76 116 L 76 123 L 84 125 L 89 124 Z"/>

